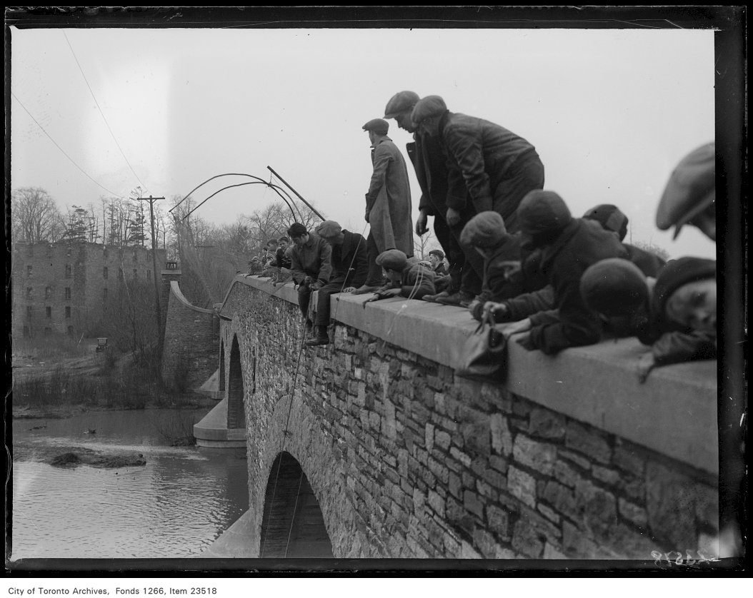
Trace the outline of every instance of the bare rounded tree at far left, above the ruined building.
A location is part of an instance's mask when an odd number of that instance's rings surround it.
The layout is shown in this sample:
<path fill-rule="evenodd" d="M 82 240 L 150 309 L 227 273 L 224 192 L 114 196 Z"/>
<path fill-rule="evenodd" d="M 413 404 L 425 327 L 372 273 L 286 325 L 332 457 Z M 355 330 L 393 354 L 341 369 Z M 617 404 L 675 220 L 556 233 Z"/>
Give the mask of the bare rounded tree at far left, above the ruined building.
<path fill-rule="evenodd" d="M 54 242 L 62 236 L 55 201 L 40 187 L 20 187 L 11 193 L 11 234 L 29 243 Z"/>

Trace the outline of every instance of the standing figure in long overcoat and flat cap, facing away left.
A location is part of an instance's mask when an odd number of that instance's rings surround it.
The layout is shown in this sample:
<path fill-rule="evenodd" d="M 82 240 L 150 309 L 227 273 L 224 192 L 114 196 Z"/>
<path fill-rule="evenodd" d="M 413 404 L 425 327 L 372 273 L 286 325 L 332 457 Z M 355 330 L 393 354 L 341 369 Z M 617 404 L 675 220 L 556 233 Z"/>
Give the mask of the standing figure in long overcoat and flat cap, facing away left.
<path fill-rule="evenodd" d="M 399 249 L 413 256 L 413 221 L 410 218 L 410 184 L 405 159 L 387 136 L 389 123 L 381 118 L 363 126 L 371 143 L 373 173 L 366 193 L 365 219 L 370 224 L 367 238 L 369 276 L 354 293 L 370 293 L 382 284 L 377 256 L 388 249 Z"/>

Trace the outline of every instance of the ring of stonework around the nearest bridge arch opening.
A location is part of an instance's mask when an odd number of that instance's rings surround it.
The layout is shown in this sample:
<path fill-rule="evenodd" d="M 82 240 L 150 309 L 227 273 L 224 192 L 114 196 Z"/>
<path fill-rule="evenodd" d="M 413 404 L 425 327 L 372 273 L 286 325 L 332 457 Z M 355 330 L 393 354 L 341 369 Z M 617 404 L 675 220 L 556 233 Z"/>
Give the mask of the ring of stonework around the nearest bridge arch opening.
<path fill-rule="evenodd" d="M 283 396 L 268 418 L 267 430 L 264 433 L 264 442 L 260 442 L 255 449 L 261 453 L 261 467 L 249 468 L 249 502 L 248 510 L 255 518 L 252 529 L 255 530 L 255 538 L 252 542 L 258 547 L 258 554 L 263 549 L 262 533 L 263 517 L 267 504 L 267 489 L 274 484 L 276 466 L 288 466 L 288 476 L 300 469 L 300 474 L 305 475 L 305 481 L 309 484 L 310 495 L 302 496 L 309 508 L 309 518 L 302 520 L 309 526 L 310 539 L 316 539 L 317 548 L 322 548 L 325 543 L 322 530 L 314 533 L 316 521 L 310 511 L 314 511 L 314 505 L 321 511 L 321 522 L 324 533 L 331 543 L 331 553 L 335 558 L 358 558 L 358 557 L 383 557 L 385 551 L 378 550 L 380 539 L 368 531 L 367 522 L 364 521 L 355 508 L 355 496 L 347 484 L 348 473 L 343 469 L 343 461 L 336 457 L 335 450 L 331 445 L 331 439 L 322 431 L 322 427 L 316 417 L 303 402 L 300 396 Z M 254 435 L 250 433 L 249 440 L 254 442 Z M 261 439 L 258 439 L 261 441 Z M 280 463 L 281 454 L 289 455 Z M 303 478 L 298 475 L 295 481 Z M 272 486 L 273 487 L 273 486 Z M 271 499 L 271 496 L 269 497 Z M 288 530 L 289 524 L 288 520 Z M 295 522 L 292 522 L 295 524 Z M 269 542 L 269 540 L 267 540 Z M 297 550 L 300 548 L 300 545 Z M 310 547 L 309 547 L 310 548 Z M 267 548 L 264 548 L 267 551 Z M 288 557 L 290 557 L 288 549 Z M 311 554 L 309 556 L 319 556 Z"/>

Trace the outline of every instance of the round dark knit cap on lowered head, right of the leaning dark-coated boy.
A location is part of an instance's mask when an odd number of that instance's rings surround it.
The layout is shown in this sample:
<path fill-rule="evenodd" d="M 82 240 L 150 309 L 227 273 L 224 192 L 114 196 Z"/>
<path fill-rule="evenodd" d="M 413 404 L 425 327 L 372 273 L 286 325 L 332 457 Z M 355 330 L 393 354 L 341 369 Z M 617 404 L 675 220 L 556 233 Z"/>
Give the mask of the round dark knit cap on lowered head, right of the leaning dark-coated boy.
<path fill-rule="evenodd" d="M 581 297 L 587 308 L 596 313 L 630 315 L 648 303 L 646 277 L 629 260 L 601 260 L 581 276 Z"/>

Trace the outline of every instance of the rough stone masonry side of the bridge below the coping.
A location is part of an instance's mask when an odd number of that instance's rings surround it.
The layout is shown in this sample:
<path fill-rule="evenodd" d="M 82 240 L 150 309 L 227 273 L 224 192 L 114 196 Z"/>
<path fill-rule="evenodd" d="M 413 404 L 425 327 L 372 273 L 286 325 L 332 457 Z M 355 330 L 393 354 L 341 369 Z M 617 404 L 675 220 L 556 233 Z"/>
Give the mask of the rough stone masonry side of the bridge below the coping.
<path fill-rule="evenodd" d="M 335 557 L 712 554 L 709 472 L 353 326 L 300 351 L 297 307 L 250 285 L 236 282 L 221 313 L 247 387 L 256 358 L 256 392 L 245 393 L 252 544 L 285 450 L 312 484 Z"/>

